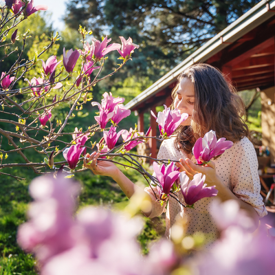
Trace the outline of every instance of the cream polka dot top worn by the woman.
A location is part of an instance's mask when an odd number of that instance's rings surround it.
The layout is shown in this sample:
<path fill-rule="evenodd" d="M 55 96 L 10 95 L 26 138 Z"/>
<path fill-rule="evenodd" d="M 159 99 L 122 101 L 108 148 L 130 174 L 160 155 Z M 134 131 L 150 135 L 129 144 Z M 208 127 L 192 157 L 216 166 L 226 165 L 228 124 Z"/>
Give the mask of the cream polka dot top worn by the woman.
<path fill-rule="evenodd" d="M 175 137 L 162 142 L 159 148 L 157 158 L 179 160 L 185 159 L 187 155 L 175 148 Z M 195 162 L 195 157 L 192 157 L 192 162 Z M 216 172 L 223 180 L 225 186 L 239 199 L 249 203 L 254 207 L 260 217 L 265 216 L 267 211 L 265 209 L 263 199 L 260 195 L 261 184 L 258 175 L 258 160 L 253 144 L 244 137 L 239 142 L 225 151 L 223 155 L 214 160 L 216 165 Z M 150 187 L 146 187 L 145 191 L 151 196 L 153 200 L 153 210 L 149 217 L 157 217 L 162 212 L 166 211 L 166 233 L 165 235 L 170 239 L 170 228 L 175 223 L 177 218 L 185 219 L 186 234 L 194 234 L 195 232 L 203 232 L 208 236 L 208 239 L 216 239 L 217 226 L 211 218 L 209 212 L 210 203 L 214 197 L 204 198 L 195 203 L 195 209 L 184 208 L 175 199 L 170 198 L 167 210 L 155 200 L 155 195 Z M 177 192 L 179 201 L 184 203 L 184 197 L 181 192 Z M 185 204 L 185 203 L 184 203 Z"/>

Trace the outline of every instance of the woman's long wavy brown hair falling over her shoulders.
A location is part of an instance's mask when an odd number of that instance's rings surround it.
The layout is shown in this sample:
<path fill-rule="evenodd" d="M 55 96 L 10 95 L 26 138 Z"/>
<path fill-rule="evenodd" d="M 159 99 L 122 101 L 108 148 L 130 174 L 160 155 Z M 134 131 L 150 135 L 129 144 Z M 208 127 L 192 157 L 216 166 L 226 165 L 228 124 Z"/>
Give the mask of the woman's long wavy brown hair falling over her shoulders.
<path fill-rule="evenodd" d="M 179 126 L 175 132 L 177 149 L 191 153 L 197 138 L 210 130 L 216 132 L 218 139 L 225 137 L 232 142 L 250 138 L 248 126 L 241 118 L 245 112 L 243 100 L 219 69 L 203 63 L 188 67 L 179 75 L 172 91 L 172 108 L 183 78 L 190 78 L 194 84 L 195 106 L 190 126 Z"/>

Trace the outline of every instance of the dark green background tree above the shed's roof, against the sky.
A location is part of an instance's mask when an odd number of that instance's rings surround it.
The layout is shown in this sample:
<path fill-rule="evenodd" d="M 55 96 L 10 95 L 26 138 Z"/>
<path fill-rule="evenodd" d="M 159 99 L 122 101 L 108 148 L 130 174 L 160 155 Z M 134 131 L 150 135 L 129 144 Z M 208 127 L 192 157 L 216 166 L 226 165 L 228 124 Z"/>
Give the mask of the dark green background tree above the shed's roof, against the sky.
<path fill-rule="evenodd" d="M 140 52 L 124 78 L 134 72 L 155 81 L 256 3 L 259 0 L 73 0 L 67 1 L 65 22 L 71 28 L 79 22 L 87 25 L 95 36 L 131 36 Z"/>

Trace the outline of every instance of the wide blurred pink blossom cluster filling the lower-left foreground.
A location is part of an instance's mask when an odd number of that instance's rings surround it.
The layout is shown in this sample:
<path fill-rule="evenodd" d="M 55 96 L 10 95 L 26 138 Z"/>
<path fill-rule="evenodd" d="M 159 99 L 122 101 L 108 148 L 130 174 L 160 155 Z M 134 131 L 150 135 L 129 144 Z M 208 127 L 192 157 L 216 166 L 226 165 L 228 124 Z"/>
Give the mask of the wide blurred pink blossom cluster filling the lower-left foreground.
<path fill-rule="evenodd" d="M 79 191 L 79 184 L 62 177 L 30 184 L 34 202 L 17 240 L 39 260 L 39 274 L 168 275 L 177 261 L 172 243 L 161 241 L 142 258 L 136 240 L 142 219 L 91 206 L 74 218 Z"/>

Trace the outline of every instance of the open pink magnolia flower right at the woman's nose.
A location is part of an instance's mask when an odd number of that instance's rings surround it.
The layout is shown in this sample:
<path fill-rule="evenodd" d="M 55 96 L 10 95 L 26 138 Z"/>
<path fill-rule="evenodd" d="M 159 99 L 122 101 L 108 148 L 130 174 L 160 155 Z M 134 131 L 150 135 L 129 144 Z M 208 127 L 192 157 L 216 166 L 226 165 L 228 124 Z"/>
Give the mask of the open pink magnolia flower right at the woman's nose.
<path fill-rule="evenodd" d="M 170 135 L 174 133 L 175 129 L 177 129 L 179 124 L 181 124 L 181 122 L 184 120 L 187 120 L 188 113 L 181 114 L 178 109 L 171 111 L 170 108 L 166 107 L 166 105 L 164 105 L 164 108 L 164 111 L 157 113 L 157 117 L 153 111 L 151 111 L 151 115 L 153 115 L 159 124 L 160 134 L 166 134 L 168 137 L 170 137 Z"/>

